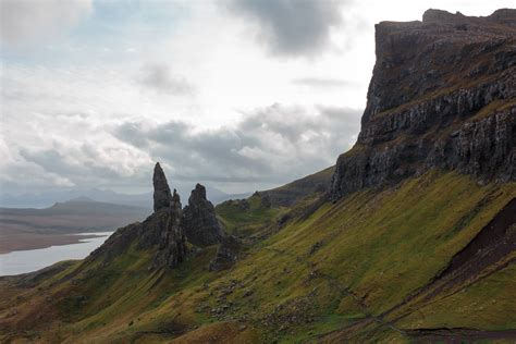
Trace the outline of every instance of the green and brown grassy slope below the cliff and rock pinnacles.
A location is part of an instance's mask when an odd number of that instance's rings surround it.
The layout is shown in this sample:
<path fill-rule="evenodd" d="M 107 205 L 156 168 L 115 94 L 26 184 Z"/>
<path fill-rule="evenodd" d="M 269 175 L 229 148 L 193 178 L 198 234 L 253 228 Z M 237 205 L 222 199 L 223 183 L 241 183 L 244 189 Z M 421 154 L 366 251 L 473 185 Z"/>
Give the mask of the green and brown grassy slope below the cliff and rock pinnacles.
<path fill-rule="evenodd" d="M 0 283 L 0 292 L 12 295 L 0 304 L 0 324 L 8 321 L 12 329 L 20 321 L 20 323 L 28 323 L 23 319 L 28 319 L 24 315 L 30 315 L 34 300 L 44 305 L 50 295 L 60 300 L 59 315 L 52 308 L 48 312 L 56 322 L 35 325 L 25 335 L 60 335 L 73 343 L 138 342 L 188 332 L 183 340 L 212 334 L 221 342 L 331 342 L 342 341 L 340 335 L 352 329 L 347 340 L 361 342 L 407 340 L 403 330 L 416 328 L 514 329 L 514 263 L 394 324 L 379 315 L 445 268 L 515 195 L 514 184 L 479 186 L 468 176 L 432 172 L 395 189 L 365 191 L 324 204 L 304 220 L 293 218 L 248 248 L 232 269 L 220 272 L 207 271 L 214 247 L 167 274 L 148 272 L 150 254 L 133 247 L 108 268 L 87 267 L 90 273 L 74 278 L 79 282 L 52 286 L 54 277 L 39 291 L 19 294 Z M 270 220 L 272 212 L 267 214 Z M 236 226 L 259 218 L 233 221 Z M 33 305 L 14 296 L 20 293 L 32 297 Z M 19 314 L 7 317 L 5 305 L 15 305 Z"/>

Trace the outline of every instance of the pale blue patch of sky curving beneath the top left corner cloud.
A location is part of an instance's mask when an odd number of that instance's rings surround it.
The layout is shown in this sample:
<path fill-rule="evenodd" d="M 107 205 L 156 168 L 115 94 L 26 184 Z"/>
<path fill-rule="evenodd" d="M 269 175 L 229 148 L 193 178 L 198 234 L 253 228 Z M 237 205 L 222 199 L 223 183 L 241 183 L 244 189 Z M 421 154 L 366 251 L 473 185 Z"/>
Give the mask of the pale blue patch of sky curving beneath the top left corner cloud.
<path fill-rule="evenodd" d="M 76 26 L 25 47 L 2 47 L 4 63 L 60 65 L 131 59 L 135 51 L 172 37 L 191 15 L 187 3 L 163 0 L 96 0 Z"/>

